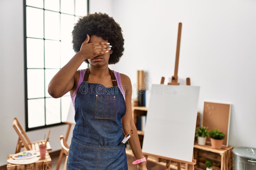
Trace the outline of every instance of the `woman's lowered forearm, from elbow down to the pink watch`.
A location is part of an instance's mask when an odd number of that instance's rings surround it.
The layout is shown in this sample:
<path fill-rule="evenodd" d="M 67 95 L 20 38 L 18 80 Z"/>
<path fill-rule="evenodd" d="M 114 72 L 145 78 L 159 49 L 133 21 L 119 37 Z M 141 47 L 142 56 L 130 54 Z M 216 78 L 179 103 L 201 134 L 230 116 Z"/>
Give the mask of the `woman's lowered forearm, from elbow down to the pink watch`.
<path fill-rule="evenodd" d="M 128 124 L 127 126 L 124 127 L 124 132 L 125 134 L 129 133 L 129 131 L 132 130 L 133 134 L 132 136 L 128 139 L 128 143 L 132 149 L 133 155 L 135 157 L 135 159 L 141 159 L 143 158 L 143 154 L 141 151 L 141 147 L 140 147 L 140 140 L 139 140 L 139 136 L 138 136 L 138 132 L 137 132 L 137 128 L 132 121 L 130 122 L 130 124 Z M 139 163 L 139 166 L 146 166 L 145 162 L 141 162 Z"/>

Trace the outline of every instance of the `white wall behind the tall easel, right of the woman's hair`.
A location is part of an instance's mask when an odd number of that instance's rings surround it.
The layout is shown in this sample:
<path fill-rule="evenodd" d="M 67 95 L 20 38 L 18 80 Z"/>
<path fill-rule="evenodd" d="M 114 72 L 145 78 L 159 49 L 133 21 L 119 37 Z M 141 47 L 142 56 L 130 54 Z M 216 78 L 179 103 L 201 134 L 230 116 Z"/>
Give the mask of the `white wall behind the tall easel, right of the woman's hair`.
<path fill-rule="evenodd" d="M 152 83 L 174 74 L 182 22 L 179 81 L 200 86 L 204 101 L 232 103 L 229 144 L 256 148 L 256 1 L 120 1 L 112 16 L 121 25 L 124 56 L 111 68 L 136 83 L 145 70 Z M 147 102 L 148 102 L 147 95 Z"/>

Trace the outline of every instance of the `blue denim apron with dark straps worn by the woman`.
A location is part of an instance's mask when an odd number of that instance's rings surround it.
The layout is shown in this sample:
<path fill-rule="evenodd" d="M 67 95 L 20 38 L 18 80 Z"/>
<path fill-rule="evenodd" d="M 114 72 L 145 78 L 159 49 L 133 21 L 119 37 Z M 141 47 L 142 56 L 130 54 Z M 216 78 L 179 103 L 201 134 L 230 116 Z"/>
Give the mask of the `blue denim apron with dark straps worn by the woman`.
<path fill-rule="evenodd" d="M 108 68 L 109 69 L 109 68 Z M 121 118 L 126 104 L 109 69 L 113 87 L 88 83 L 89 68 L 75 99 L 75 127 L 69 147 L 67 169 L 128 170 Z"/>

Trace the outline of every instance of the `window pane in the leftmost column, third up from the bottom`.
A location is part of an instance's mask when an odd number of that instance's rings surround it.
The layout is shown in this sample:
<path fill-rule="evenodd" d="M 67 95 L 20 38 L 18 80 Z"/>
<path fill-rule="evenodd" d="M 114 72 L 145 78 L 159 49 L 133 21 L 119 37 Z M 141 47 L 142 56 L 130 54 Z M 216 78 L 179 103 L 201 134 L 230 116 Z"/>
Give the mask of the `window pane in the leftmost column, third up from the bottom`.
<path fill-rule="evenodd" d="M 27 38 L 27 68 L 44 68 L 44 40 Z"/>

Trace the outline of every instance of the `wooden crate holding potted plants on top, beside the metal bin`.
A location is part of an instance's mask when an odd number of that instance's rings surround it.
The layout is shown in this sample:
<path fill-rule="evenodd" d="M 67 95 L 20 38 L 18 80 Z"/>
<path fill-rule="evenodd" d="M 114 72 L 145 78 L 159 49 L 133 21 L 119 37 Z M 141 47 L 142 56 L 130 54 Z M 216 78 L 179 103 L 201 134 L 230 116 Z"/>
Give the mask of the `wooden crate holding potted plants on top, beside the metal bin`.
<path fill-rule="evenodd" d="M 195 169 L 206 169 L 205 161 L 212 160 L 213 170 L 231 170 L 233 168 L 232 146 L 222 146 L 214 149 L 209 143 L 206 145 L 194 144 L 194 159 L 197 160 Z"/>

